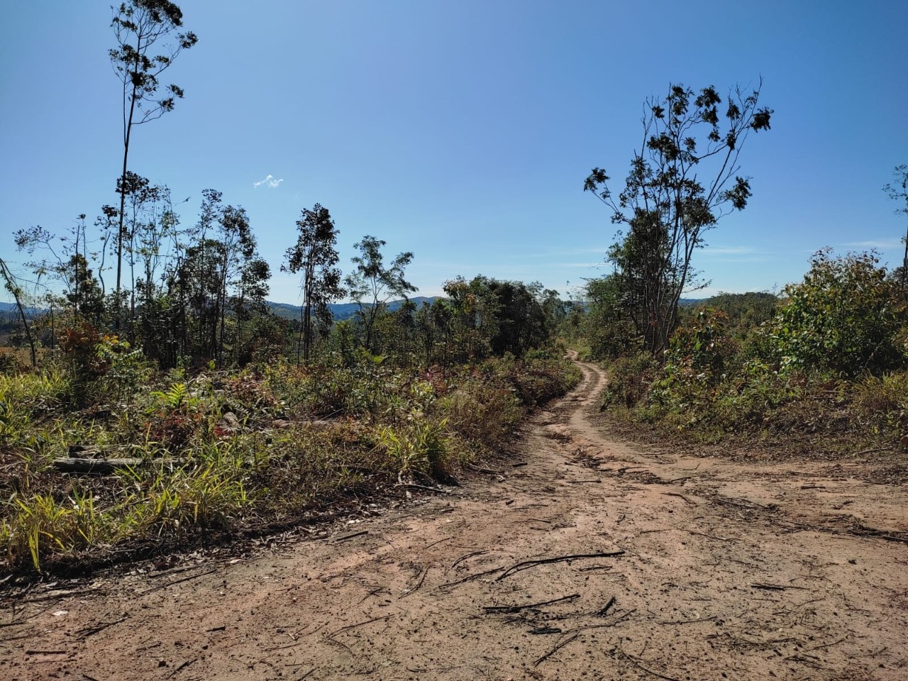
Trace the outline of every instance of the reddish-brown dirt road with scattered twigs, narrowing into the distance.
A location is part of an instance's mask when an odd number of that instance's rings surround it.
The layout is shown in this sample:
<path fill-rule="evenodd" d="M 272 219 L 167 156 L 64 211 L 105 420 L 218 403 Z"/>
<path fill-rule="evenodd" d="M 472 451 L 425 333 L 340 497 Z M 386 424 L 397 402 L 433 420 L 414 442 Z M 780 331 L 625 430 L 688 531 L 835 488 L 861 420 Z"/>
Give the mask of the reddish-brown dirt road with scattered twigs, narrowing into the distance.
<path fill-rule="evenodd" d="M 0 678 L 908 678 L 904 486 L 612 441 L 582 368 L 449 495 L 7 603 Z"/>

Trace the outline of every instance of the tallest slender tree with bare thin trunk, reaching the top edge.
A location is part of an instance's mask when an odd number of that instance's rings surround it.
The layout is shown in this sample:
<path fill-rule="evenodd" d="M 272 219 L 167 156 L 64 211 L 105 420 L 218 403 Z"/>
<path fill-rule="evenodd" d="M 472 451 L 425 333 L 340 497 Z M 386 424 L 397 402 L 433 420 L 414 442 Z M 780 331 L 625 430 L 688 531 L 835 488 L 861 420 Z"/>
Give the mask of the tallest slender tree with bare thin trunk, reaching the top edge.
<path fill-rule="evenodd" d="M 111 22 L 116 47 L 109 51 L 114 73 L 123 84 L 123 172 L 117 182 L 120 194 L 119 229 L 116 236 L 116 301 L 119 305 L 123 271 L 124 218 L 130 191 L 127 169 L 133 128 L 173 111 L 183 88 L 162 88 L 160 76 L 183 50 L 196 44 L 192 31 L 180 33 L 183 11 L 169 0 L 129 0 L 114 10 Z M 162 92 L 159 92 L 162 89 Z"/>

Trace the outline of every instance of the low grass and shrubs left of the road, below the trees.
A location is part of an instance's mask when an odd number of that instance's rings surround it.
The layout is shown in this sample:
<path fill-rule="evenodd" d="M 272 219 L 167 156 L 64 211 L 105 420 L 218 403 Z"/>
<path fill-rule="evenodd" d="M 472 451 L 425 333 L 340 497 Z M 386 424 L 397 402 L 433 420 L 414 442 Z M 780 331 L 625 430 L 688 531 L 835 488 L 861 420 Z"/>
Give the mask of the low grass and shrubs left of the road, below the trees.
<path fill-rule="evenodd" d="M 292 525 L 498 451 L 576 373 L 545 352 L 442 369 L 360 350 L 159 370 L 104 336 L 37 370 L 0 353 L 0 571 L 61 571 Z"/>

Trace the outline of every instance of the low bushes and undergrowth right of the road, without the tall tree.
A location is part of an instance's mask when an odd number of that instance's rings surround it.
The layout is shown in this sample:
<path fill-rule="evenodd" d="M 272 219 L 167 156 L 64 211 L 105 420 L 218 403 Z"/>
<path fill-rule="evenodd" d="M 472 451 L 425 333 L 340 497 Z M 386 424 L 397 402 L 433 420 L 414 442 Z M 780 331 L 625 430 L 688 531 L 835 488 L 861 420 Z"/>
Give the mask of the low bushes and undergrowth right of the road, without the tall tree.
<path fill-rule="evenodd" d="M 602 288 L 604 284 L 596 284 Z M 683 308 L 661 355 L 640 351 L 614 301 L 575 328 L 611 381 L 603 408 L 662 434 L 736 441 L 764 456 L 908 450 L 908 297 L 873 254 L 814 255 L 780 296 L 724 294 Z M 604 308 L 601 306 L 605 306 Z"/>

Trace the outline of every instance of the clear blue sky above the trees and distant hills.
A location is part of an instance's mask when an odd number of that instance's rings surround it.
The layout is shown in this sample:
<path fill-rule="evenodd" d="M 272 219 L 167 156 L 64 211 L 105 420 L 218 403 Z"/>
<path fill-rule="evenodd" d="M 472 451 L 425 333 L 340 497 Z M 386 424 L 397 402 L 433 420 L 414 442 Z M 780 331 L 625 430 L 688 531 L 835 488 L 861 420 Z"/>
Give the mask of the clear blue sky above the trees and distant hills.
<path fill-rule="evenodd" d="M 438 294 L 458 274 L 566 282 L 607 272 L 594 166 L 623 178 L 641 105 L 670 82 L 765 79 L 773 129 L 742 154 L 754 197 L 696 253 L 705 291 L 799 280 L 812 252 L 876 247 L 906 223 L 881 190 L 908 163 L 908 2 L 183 0 L 199 43 L 166 73 L 185 99 L 139 127 L 131 167 L 195 222 L 203 189 L 250 214 L 277 272 L 304 207 L 412 251 Z M 0 253 L 114 203 L 122 163 L 108 2 L 8 2 L 0 26 Z M 254 183 L 271 175 L 277 187 Z M 703 295 L 698 293 L 697 295 Z M 296 301 L 276 273 L 271 300 Z"/>

